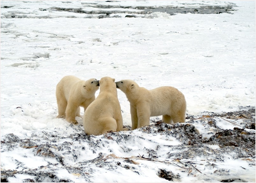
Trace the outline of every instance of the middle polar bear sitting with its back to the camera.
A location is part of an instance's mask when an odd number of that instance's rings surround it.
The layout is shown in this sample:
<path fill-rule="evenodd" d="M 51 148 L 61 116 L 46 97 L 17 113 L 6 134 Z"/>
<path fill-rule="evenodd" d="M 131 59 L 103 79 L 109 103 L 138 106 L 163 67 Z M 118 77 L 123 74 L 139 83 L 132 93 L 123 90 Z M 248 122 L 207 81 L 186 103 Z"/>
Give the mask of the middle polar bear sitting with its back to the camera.
<path fill-rule="evenodd" d="M 115 79 L 103 77 L 99 81 L 100 93 L 83 116 L 83 127 L 89 135 L 102 135 L 107 131 L 123 130 L 123 118 L 117 98 Z"/>

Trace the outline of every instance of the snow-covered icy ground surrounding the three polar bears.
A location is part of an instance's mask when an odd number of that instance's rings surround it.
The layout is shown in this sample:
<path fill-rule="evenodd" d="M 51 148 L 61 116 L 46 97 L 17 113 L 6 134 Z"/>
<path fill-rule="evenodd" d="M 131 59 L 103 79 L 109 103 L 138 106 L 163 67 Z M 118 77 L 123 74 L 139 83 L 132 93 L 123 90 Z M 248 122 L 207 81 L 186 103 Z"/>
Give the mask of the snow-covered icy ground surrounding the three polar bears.
<path fill-rule="evenodd" d="M 235 11 L 143 11 L 216 7 Z M 164 125 L 158 116 L 150 127 L 87 136 L 81 118 L 78 125 L 56 118 L 55 88 L 65 75 L 176 87 L 186 97 L 187 123 Z M 117 91 L 131 126 L 129 102 Z M 254 147 L 221 144 L 215 136 L 225 130 L 238 140 L 254 136 Z M 255 182 L 255 1 L 1 1 L 2 177 Z"/>

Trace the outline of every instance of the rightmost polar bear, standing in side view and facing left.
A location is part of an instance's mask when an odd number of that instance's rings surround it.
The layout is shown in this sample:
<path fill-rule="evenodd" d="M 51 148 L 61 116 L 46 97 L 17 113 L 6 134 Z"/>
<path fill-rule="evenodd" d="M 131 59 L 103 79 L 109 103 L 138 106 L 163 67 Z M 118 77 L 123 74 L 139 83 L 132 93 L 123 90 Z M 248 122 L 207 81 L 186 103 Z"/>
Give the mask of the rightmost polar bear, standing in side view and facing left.
<path fill-rule="evenodd" d="M 116 82 L 130 102 L 132 130 L 149 125 L 150 116 L 162 115 L 162 122 L 184 123 L 186 100 L 184 95 L 174 87 L 163 86 L 148 90 L 132 80 Z"/>

